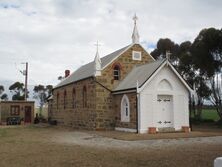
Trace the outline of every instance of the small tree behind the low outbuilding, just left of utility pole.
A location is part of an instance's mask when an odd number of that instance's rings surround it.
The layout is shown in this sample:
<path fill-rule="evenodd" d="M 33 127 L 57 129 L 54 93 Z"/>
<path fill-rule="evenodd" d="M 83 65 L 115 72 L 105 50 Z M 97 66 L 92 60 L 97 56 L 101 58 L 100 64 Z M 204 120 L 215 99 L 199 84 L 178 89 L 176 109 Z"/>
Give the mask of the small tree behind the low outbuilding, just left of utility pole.
<path fill-rule="evenodd" d="M 24 84 L 20 82 L 15 82 L 9 87 L 10 92 L 12 92 L 12 100 L 25 100 L 25 88 Z M 27 97 L 28 97 L 27 92 Z"/>

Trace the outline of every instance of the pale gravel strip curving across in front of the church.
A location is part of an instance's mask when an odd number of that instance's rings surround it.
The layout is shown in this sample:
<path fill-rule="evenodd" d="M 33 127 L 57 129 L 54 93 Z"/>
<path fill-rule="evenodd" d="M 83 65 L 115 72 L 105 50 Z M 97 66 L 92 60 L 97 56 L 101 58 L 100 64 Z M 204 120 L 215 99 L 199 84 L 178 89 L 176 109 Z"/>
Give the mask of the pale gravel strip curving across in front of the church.
<path fill-rule="evenodd" d="M 197 145 L 197 144 L 222 145 L 222 136 L 124 141 L 124 140 L 102 137 L 95 134 L 89 134 L 86 132 L 61 132 L 61 134 L 53 136 L 52 141 L 61 144 L 74 144 L 80 146 L 96 147 L 100 149 L 102 148 L 159 149 L 164 147 L 178 147 L 178 146 Z"/>

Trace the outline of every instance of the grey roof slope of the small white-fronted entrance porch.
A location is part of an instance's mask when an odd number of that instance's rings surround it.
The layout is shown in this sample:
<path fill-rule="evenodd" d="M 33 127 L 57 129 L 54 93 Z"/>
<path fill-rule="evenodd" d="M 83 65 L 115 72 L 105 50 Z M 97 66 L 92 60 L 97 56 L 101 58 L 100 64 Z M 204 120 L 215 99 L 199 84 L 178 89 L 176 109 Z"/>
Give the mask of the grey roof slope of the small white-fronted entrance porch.
<path fill-rule="evenodd" d="M 166 59 L 158 60 L 134 67 L 126 78 L 124 78 L 123 81 L 114 89 L 114 91 L 136 88 L 137 82 L 138 86 L 141 87 L 165 60 Z"/>

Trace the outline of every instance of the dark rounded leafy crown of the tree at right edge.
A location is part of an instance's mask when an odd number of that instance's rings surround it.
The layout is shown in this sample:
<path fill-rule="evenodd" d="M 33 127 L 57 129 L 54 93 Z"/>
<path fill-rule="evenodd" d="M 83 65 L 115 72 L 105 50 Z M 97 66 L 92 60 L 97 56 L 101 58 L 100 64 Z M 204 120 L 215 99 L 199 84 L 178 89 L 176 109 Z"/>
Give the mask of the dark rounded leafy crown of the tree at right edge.
<path fill-rule="evenodd" d="M 203 29 L 192 44 L 194 64 L 202 75 L 212 77 L 222 67 L 222 31 Z"/>

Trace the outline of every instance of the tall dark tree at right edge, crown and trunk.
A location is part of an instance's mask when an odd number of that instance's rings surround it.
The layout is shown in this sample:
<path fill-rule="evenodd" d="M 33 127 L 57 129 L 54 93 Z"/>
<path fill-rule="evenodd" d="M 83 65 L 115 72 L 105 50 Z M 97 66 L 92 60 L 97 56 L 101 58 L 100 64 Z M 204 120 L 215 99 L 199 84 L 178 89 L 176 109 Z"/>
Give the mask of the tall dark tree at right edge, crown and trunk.
<path fill-rule="evenodd" d="M 222 30 L 203 29 L 192 44 L 194 65 L 210 87 L 210 100 L 222 121 Z"/>

